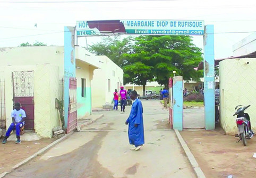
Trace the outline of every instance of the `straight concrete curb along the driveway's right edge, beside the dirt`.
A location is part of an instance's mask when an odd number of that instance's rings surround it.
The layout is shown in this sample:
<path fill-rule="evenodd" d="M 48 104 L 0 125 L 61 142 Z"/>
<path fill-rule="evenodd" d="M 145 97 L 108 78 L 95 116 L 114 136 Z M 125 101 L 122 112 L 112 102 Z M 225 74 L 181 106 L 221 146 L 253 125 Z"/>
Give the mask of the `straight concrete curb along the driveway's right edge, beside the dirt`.
<path fill-rule="evenodd" d="M 182 148 L 184 149 L 187 158 L 189 158 L 189 161 L 193 167 L 193 170 L 195 172 L 195 174 L 197 175 L 198 178 L 206 178 L 206 176 L 204 175 L 204 173 L 202 172 L 201 168 L 198 165 L 198 162 L 195 160 L 194 155 L 191 153 L 189 147 L 186 145 L 184 139 L 182 138 L 180 132 L 178 132 L 177 129 L 174 129 L 175 134 L 182 146 Z"/>

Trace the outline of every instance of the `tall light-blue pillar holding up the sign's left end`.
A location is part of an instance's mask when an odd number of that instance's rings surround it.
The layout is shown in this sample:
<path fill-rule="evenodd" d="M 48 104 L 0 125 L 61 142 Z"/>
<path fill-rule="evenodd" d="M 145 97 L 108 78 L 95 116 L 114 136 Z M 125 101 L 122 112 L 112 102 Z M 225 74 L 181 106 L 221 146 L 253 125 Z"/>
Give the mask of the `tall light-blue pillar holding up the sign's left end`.
<path fill-rule="evenodd" d="M 64 27 L 64 120 L 67 128 L 69 116 L 70 78 L 75 77 L 74 27 Z"/>

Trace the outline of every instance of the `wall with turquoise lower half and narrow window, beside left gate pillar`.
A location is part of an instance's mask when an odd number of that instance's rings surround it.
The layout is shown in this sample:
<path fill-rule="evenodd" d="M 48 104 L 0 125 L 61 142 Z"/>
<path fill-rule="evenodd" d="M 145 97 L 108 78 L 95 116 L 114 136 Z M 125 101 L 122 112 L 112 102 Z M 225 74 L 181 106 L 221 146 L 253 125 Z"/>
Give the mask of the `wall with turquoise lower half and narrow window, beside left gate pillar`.
<path fill-rule="evenodd" d="M 91 82 L 90 66 L 81 60 L 76 60 L 76 99 L 78 102 L 78 118 L 84 118 L 91 114 Z M 79 69 L 81 68 L 81 69 Z M 86 79 L 85 95 L 82 97 L 82 79 Z"/>

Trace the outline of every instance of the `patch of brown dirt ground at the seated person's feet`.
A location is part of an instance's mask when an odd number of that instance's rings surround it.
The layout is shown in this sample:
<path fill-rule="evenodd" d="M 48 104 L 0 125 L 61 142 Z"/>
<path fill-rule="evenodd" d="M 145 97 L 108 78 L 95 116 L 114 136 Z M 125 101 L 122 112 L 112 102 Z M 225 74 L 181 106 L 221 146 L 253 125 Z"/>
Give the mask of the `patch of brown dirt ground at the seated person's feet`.
<path fill-rule="evenodd" d="M 55 139 L 40 139 L 32 142 L 22 141 L 15 144 L 15 141 L 7 141 L 6 144 L 0 143 L 0 174 L 10 171 L 12 167 L 25 160 L 40 149 L 54 142 Z"/>

